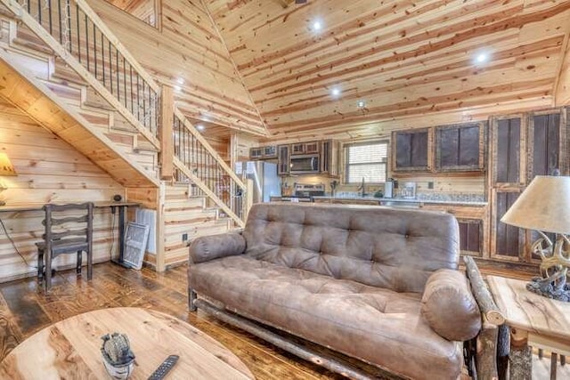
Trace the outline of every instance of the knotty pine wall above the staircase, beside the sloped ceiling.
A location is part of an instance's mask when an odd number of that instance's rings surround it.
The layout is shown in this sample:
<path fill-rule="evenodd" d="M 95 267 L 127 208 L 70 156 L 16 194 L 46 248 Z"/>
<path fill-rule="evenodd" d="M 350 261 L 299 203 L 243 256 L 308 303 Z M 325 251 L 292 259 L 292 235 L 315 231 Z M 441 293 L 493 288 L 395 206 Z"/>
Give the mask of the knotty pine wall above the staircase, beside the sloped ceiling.
<path fill-rule="evenodd" d="M 175 88 L 176 105 L 194 120 L 252 133 L 265 126 L 201 2 L 162 2 L 162 30 L 104 0 L 88 3 L 152 76 Z"/>

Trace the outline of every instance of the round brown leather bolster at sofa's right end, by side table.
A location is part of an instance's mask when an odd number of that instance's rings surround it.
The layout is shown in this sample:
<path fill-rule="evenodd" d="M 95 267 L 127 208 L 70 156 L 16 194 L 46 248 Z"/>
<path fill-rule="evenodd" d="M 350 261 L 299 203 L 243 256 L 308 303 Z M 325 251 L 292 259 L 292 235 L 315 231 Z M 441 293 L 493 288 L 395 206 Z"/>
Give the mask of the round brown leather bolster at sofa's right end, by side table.
<path fill-rule="evenodd" d="M 439 270 L 432 274 L 421 297 L 421 314 L 437 334 L 467 341 L 481 330 L 481 312 L 460 271 Z"/>

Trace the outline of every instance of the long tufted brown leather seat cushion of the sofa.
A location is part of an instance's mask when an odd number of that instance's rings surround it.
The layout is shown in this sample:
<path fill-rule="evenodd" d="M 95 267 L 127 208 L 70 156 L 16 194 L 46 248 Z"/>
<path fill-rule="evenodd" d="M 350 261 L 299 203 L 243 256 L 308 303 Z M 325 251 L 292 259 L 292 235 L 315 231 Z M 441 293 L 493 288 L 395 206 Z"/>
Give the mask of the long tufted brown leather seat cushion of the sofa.
<path fill-rule="evenodd" d="M 428 326 L 418 293 L 395 293 L 246 255 L 191 265 L 188 276 L 199 295 L 396 375 L 460 375 L 461 344 Z"/>

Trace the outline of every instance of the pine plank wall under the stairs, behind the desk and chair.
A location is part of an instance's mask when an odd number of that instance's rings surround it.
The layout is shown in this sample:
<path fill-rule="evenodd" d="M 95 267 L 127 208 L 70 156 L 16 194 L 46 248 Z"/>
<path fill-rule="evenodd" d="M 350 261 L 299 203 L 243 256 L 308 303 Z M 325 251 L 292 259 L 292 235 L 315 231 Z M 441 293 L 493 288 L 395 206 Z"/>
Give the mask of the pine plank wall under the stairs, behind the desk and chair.
<path fill-rule="evenodd" d="M 67 142 L 48 132 L 19 109 L 0 99 L 0 150 L 7 153 L 18 176 L 2 177 L 8 188 L 0 195 L 9 204 L 109 200 L 125 189 Z M 117 228 L 111 230 L 109 209 L 94 216 L 94 262 L 110 259 L 117 252 Z M 28 263 L 37 265 L 44 214 L 40 211 L 0 213 L 8 233 Z M 116 224 L 115 224 L 116 225 Z M 57 259 L 56 266 L 73 264 L 75 255 Z M 15 252 L 0 230 L 0 282 L 24 277 L 36 270 Z"/>

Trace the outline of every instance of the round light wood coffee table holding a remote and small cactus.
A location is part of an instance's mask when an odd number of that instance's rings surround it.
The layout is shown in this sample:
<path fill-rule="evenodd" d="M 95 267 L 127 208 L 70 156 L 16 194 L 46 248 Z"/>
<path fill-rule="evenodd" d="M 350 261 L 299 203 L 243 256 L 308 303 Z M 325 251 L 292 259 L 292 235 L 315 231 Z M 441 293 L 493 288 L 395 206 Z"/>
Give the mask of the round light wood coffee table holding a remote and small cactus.
<path fill-rule="evenodd" d="M 252 379 L 232 352 L 195 327 L 158 311 L 114 308 L 61 320 L 30 336 L 0 363 L 0 378 L 108 380 L 101 336 L 126 334 L 136 356 L 133 379 L 147 379 L 167 359 L 180 359 L 167 379 Z"/>

